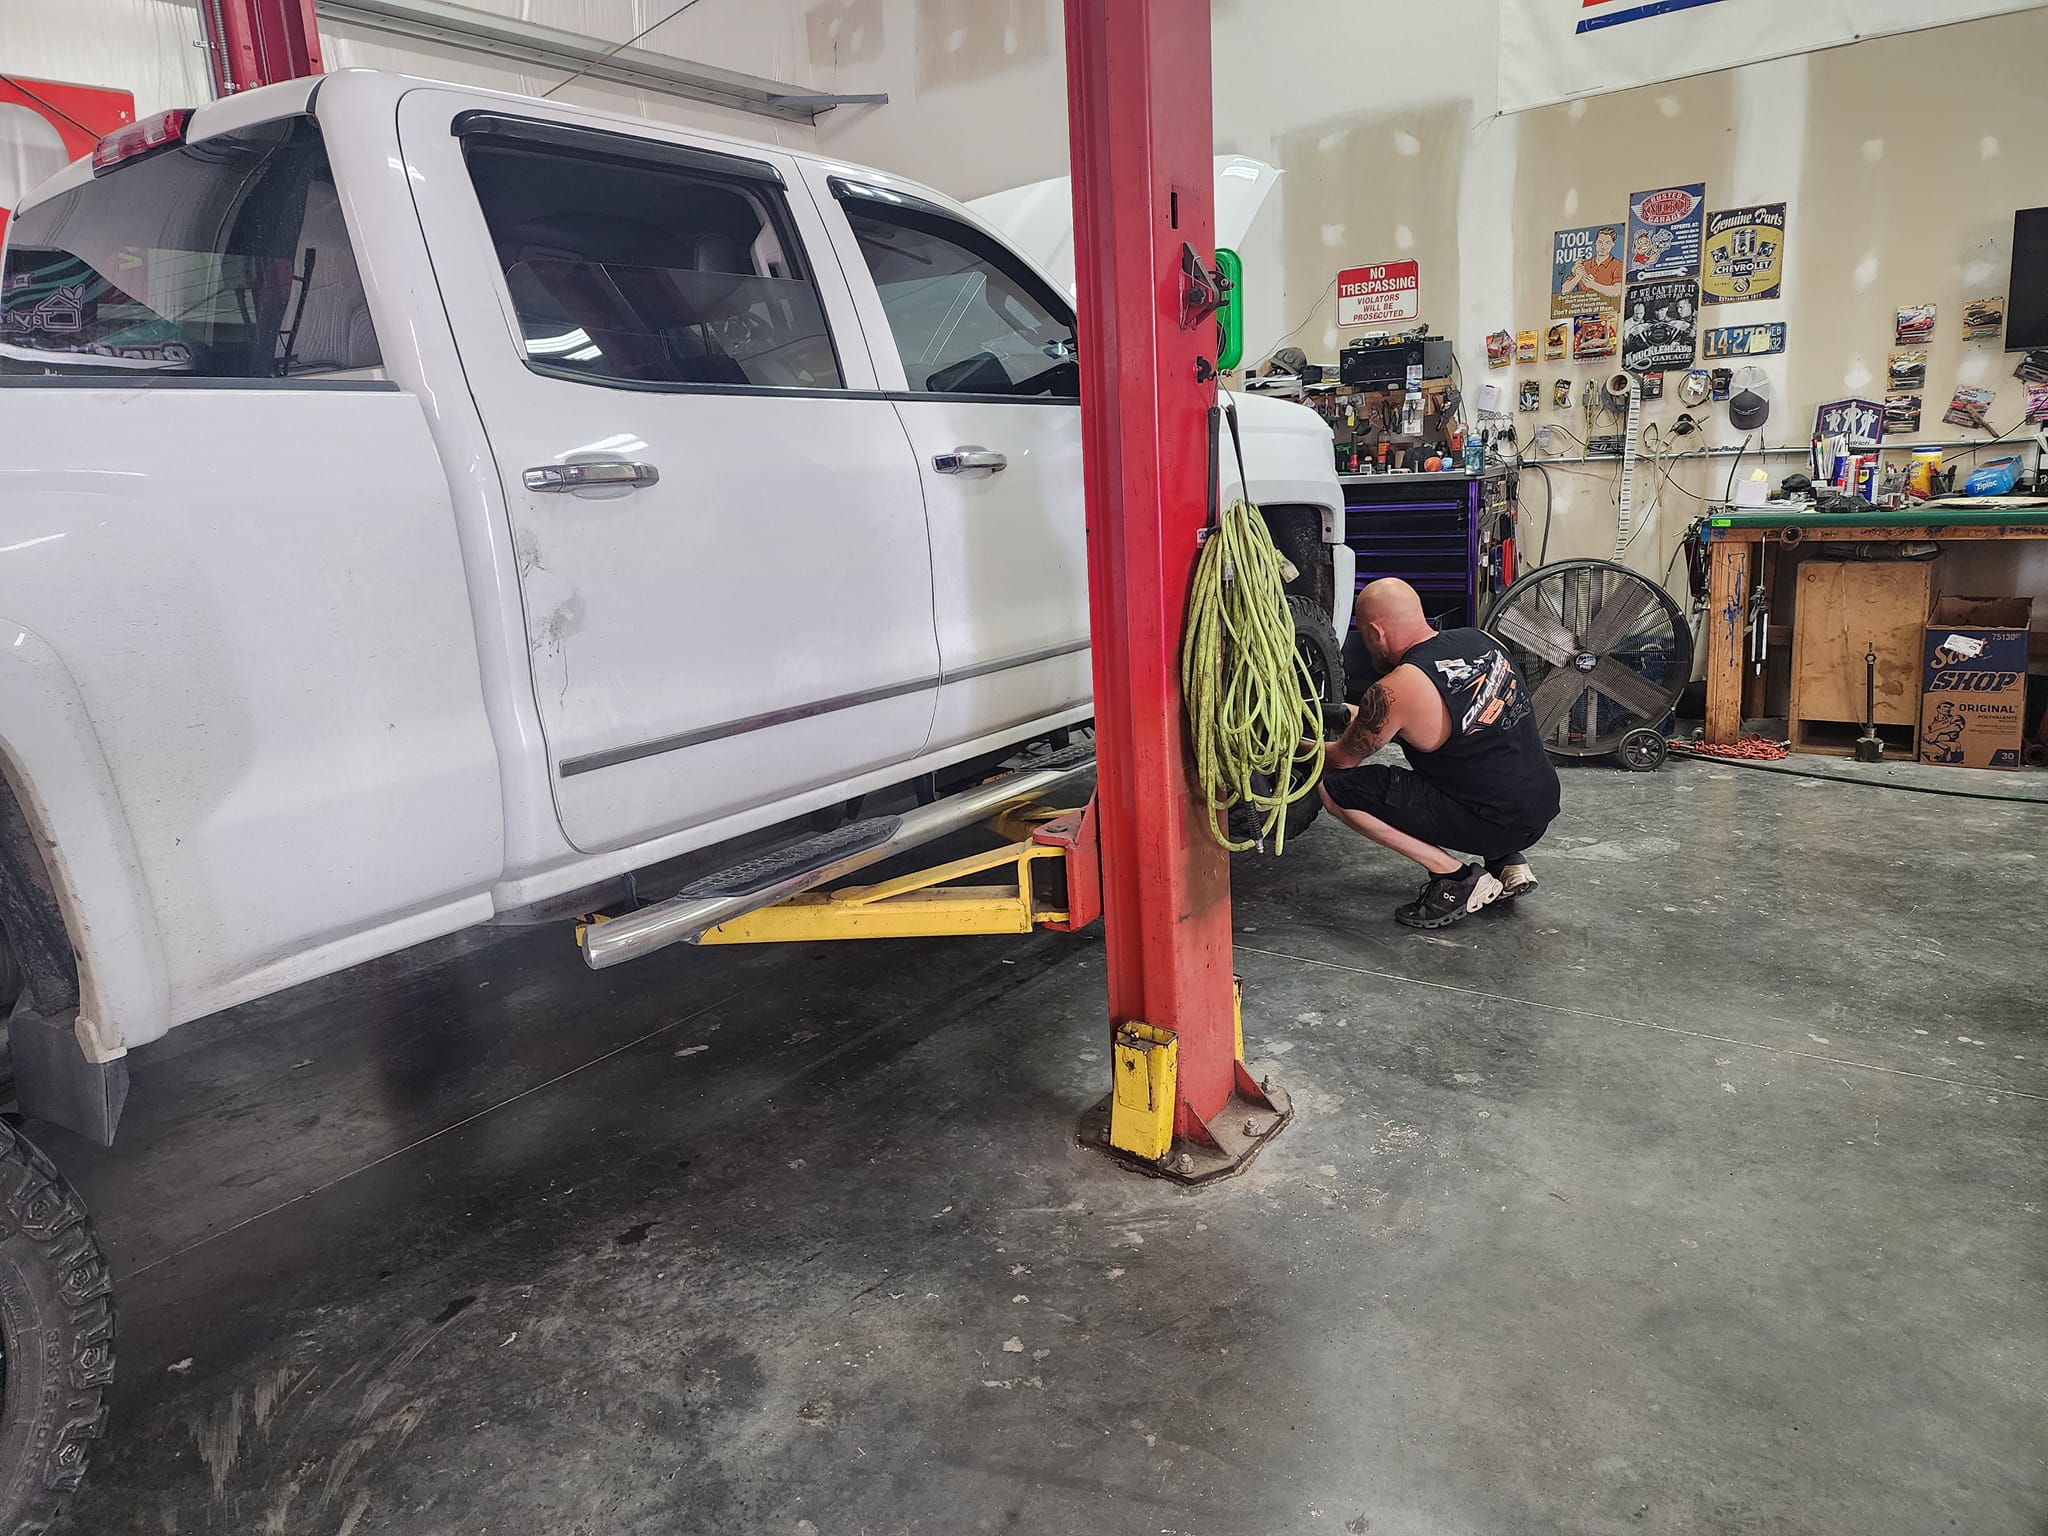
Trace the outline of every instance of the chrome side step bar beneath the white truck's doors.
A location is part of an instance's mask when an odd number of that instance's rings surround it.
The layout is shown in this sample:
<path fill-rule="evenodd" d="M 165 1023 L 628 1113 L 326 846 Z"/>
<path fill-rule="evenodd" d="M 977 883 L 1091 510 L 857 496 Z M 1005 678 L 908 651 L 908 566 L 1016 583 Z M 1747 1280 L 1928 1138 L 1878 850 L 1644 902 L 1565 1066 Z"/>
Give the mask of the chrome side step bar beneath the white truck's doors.
<path fill-rule="evenodd" d="M 838 834 L 819 838 L 817 842 L 825 844 L 821 848 L 797 844 L 797 848 L 782 854 L 782 858 L 797 856 L 793 866 L 786 872 L 776 872 L 772 879 L 762 879 L 766 860 L 750 860 L 733 870 L 698 881 L 668 901 L 629 911 L 625 918 L 592 924 L 584 932 L 584 965 L 592 971 L 606 971 L 614 965 L 637 961 L 641 954 L 653 954 L 670 944 L 694 944 L 723 922 L 772 907 L 784 897 L 815 891 L 819 885 L 838 881 L 868 864 L 879 864 L 885 858 L 936 842 L 977 821 L 987 821 L 1014 805 L 1024 805 L 1065 788 L 1094 770 L 1094 748 L 1073 748 L 1057 754 L 1042 766 L 1018 768 L 1001 778 L 991 778 L 987 784 L 975 784 L 932 805 L 920 805 L 915 811 L 879 817 L 879 825 L 870 829 L 870 836 L 848 840 L 846 834 L 862 827 L 860 821 L 854 821 Z M 809 856 L 805 856 L 807 850 Z M 776 854 L 768 856 L 768 860 L 776 858 Z"/>

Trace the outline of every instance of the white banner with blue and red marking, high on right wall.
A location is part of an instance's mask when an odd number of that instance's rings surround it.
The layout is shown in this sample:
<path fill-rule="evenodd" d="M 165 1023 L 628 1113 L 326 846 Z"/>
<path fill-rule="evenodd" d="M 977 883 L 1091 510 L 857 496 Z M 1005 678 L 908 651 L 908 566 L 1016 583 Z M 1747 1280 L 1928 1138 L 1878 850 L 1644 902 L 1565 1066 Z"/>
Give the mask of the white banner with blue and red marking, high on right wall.
<path fill-rule="evenodd" d="M 2048 0 L 1501 0 L 1501 111 L 1630 90 Z"/>

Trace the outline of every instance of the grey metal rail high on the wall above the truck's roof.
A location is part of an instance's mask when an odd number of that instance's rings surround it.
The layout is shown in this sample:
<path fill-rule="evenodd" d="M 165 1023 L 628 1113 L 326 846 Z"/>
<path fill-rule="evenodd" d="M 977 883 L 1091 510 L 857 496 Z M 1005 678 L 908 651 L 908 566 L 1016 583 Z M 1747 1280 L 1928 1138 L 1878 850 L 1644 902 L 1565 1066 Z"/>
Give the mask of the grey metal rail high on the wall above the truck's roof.
<path fill-rule="evenodd" d="M 692 63 L 645 47 L 616 47 L 598 37 L 565 33 L 514 16 L 453 4 L 453 0 L 317 0 L 319 16 L 397 37 L 446 43 L 494 59 L 512 59 L 543 70 L 582 74 L 621 86 L 655 90 L 666 96 L 733 106 L 741 113 L 813 123 L 834 106 L 883 104 L 887 94 L 834 96 L 766 80 L 756 74 Z"/>

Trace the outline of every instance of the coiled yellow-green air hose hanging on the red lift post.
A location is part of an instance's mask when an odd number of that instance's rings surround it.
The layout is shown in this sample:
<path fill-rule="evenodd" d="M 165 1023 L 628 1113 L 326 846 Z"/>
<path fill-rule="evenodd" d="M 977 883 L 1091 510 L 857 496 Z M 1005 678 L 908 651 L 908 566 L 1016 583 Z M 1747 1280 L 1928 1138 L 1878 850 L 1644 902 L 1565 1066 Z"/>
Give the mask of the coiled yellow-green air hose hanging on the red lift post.
<path fill-rule="evenodd" d="M 1264 840 L 1282 852 L 1286 807 L 1323 776 L 1321 745 L 1303 752 L 1323 739 L 1323 705 L 1294 645 L 1280 551 L 1249 502 L 1231 502 L 1194 561 L 1180 686 L 1208 834 L 1231 852 Z M 1307 764 L 1298 780 L 1296 764 Z M 1262 813 L 1253 838 L 1231 838 L 1233 805 Z"/>

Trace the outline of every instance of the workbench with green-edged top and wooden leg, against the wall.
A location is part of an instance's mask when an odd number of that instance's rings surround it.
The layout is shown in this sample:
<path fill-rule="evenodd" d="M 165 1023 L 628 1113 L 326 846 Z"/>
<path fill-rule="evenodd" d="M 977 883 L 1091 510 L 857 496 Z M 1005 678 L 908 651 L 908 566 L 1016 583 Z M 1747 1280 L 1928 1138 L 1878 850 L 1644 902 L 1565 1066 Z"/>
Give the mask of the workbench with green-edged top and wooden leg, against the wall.
<path fill-rule="evenodd" d="M 1706 520 L 1706 739 L 1743 731 L 1743 659 L 1749 592 L 1765 551 L 1802 543 L 1919 545 L 1985 539 L 2048 539 L 2048 498 L 1954 496 L 1896 512 L 1792 512 L 1729 508 Z"/>

